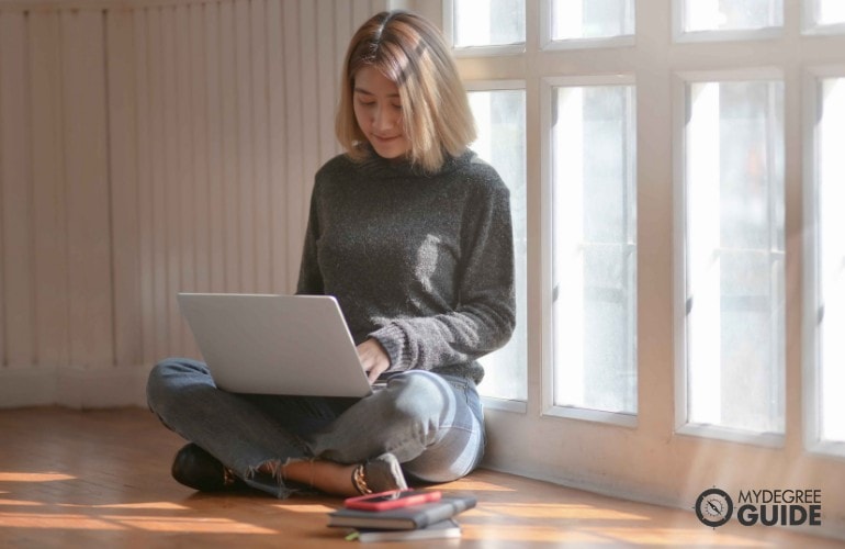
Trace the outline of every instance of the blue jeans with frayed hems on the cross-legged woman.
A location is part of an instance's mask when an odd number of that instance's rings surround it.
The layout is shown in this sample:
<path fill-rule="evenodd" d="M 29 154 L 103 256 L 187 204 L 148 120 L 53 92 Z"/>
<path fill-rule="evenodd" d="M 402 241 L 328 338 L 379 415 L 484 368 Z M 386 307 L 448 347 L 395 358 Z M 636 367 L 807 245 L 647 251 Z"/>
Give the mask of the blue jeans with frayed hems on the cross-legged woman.
<path fill-rule="evenodd" d="M 257 474 L 263 463 L 360 463 L 391 452 L 408 477 L 448 482 L 484 455 L 475 384 L 421 370 L 390 374 L 384 389 L 364 399 L 279 396 L 223 391 L 204 363 L 170 358 L 150 372 L 147 401 L 167 427 L 277 497 L 294 489 Z"/>

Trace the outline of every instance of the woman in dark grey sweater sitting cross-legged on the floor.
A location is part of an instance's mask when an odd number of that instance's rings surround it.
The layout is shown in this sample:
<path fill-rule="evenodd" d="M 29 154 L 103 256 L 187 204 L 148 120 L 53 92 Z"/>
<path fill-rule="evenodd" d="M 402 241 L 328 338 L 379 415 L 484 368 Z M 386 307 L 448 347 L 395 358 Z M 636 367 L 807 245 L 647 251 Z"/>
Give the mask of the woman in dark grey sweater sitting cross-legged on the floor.
<path fill-rule="evenodd" d="M 370 382 L 364 399 L 234 394 L 168 359 L 150 408 L 191 444 L 173 477 L 286 497 L 447 482 L 484 452 L 476 359 L 515 323 L 507 188 L 466 147 L 466 93 L 439 31 L 380 13 L 352 37 L 337 115 L 346 149 L 316 175 L 297 293 L 335 295 Z"/>

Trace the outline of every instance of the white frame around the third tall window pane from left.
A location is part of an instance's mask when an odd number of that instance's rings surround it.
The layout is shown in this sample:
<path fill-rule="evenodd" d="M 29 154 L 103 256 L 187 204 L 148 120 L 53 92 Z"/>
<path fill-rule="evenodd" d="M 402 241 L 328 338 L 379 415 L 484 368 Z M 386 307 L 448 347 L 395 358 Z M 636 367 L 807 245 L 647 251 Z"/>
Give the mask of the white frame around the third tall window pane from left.
<path fill-rule="evenodd" d="M 687 183 L 686 183 L 686 125 L 688 122 L 687 86 L 696 82 L 784 80 L 784 71 L 777 67 L 750 67 L 712 71 L 678 71 L 673 79 L 673 179 L 675 190 L 675 432 L 679 435 L 714 438 L 733 442 L 751 444 L 769 448 L 782 448 L 786 435 L 754 433 L 717 425 L 688 422 L 689 395 L 687 369 Z M 786 368 L 781 368 L 786 372 Z M 786 401 L 786 395 L 785 395 Z M 785 402 L 786 405 L 786 402 Z"/>

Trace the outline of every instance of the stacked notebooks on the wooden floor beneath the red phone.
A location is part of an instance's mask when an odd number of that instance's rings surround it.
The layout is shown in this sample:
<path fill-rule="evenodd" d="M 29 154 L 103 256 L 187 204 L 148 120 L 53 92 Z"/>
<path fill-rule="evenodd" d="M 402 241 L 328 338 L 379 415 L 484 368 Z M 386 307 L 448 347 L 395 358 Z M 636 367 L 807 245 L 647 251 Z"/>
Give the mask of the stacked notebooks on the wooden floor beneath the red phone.
<path fill-rule="evenodd" d="M 351 528 L 347 539 L 404 541 L 458 538 L 461 527 L 454 517 L 475 506 L 471 495 L 442 495 L 439 500 L 383 511 L 340 508 L 328 515 L 328 525 Z"/>

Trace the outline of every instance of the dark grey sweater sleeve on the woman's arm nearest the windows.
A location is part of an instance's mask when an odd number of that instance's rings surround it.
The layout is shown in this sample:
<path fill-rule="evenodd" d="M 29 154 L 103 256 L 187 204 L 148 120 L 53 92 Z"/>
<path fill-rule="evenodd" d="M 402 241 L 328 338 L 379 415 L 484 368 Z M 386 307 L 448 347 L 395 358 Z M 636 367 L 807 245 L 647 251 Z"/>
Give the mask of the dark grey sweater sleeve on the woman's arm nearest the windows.
<path fill-rule="evenodd" d="M 464 213 L 454 310 L 396 318 L 370 334 L 390 356 L 388 371 L 467 363 L 510 338 L 516 303 L 509 191 L 497 177 L 483 191 Z"/>

